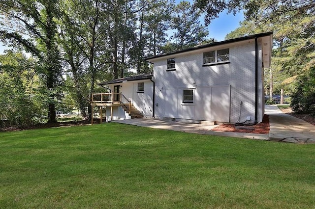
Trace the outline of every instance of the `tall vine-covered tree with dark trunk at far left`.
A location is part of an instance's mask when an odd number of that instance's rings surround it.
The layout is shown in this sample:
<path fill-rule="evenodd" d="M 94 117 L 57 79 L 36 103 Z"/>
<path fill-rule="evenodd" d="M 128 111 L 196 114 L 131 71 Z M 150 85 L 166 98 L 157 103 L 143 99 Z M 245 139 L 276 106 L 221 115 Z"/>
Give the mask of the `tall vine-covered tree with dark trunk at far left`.
<path fill-rule="evenodd" d="M 56 41 L 59 0 L 0 0 L 0 35 L 10 46 L 24 48 L 37 58 L 36 74 L 46 84 L 48 121 L 56 121 L 56 87 L 62 84 Z"/>

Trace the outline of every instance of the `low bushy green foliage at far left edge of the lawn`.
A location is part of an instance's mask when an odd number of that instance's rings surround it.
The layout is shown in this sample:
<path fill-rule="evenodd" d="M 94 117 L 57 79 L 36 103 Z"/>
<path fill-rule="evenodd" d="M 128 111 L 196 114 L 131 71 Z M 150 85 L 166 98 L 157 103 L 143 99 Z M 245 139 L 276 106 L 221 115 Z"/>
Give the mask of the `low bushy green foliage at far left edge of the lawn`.
<path fill-rule="evenodd" d="M 45 120 L 47 97 L 40 92 L 33 64 L 22 53 L 0 55 L 0 127 L 25 127 Z"/>

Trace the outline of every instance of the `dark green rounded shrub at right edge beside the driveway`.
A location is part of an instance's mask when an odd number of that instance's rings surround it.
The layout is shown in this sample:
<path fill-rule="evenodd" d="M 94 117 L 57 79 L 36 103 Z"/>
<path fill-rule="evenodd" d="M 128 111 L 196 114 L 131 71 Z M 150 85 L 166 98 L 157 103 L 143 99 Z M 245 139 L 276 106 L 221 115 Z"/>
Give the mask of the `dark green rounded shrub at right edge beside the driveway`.
<path fill-rule="evenodd" d="M 296 113 L 315 115 L 315 67 L 298 77 L 291 107 Z"/>

